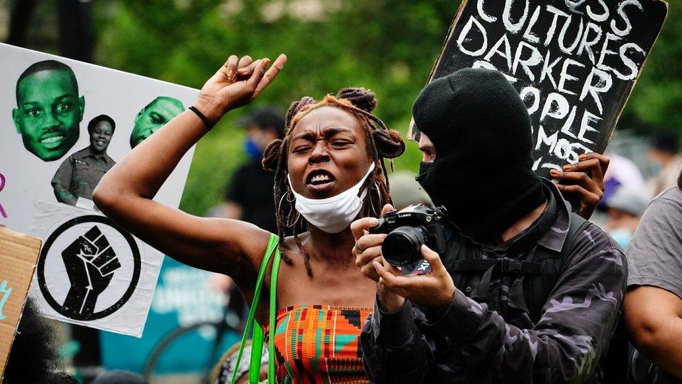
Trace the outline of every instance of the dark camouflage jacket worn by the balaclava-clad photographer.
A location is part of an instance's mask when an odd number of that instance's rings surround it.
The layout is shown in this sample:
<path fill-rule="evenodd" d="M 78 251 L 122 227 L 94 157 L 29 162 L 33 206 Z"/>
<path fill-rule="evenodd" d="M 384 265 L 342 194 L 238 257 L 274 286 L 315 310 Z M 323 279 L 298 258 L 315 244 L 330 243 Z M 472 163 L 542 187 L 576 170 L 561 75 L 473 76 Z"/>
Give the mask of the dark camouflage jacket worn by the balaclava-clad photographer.
<path fill-rule="evenodd" d="M 569 227 L 569 206 L 558 201 L 556 221 L 533 245 L 560 252 Z M 543 213 L 545 214 L 545 213 Z M 465 242 L 461 253 L 510 257 L 509 245 Z M 461 241 L 462 236 L 454 236 Z M 451 239 L 452 241 L 452 239 Z M 535 248 L 534 246 L 531 248 Z M 609 346 L 627 280 L 623 251 L 599 227 L 577 234 L 561 264 L 556 285 L 534 323 L 525 304 L 523 275 L 493 276 L 491 305 L 478 302 L 481 276 L 460 280 L 444 315 L 410 303 L 397 313 L 378 304 L 363 327 L 365 370 L 374 383 L 598 383 L 599 359 Z M 528 259 L 530 250 L 515 259 Z M 451 274 L 453 269 L 448 268 Z M 455 281 L 458 281 L 457 279 Z M 463 281 L 463 284 L 461 283 Z"/>

